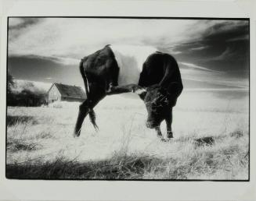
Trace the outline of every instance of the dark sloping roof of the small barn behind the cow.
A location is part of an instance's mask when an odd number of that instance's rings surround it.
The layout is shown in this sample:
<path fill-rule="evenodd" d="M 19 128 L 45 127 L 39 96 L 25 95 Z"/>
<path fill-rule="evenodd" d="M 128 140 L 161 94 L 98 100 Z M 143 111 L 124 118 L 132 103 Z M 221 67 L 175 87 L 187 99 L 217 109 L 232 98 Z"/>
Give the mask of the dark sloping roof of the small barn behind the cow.
<path fill-rule="evenodd" d="M 62 83 L 53 83 L 52 86 L 53 85 L 57 87 L 62 97 L 73 97 L 73 98 L 81 98 L 81 99 L 86 98 L 85 91 L 82 90 L 80 86 L 70 86 Z"/>

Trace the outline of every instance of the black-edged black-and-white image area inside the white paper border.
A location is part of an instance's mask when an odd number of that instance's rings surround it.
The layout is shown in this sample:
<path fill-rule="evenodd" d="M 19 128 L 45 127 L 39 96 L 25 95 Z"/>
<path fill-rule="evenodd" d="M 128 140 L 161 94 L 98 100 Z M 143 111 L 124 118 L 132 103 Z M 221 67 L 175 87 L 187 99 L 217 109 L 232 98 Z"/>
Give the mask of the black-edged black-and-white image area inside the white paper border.
<path fill-rule="evenodd" d="M 249 19 L 9 17 L 9 179 L 249 181 Z"/>

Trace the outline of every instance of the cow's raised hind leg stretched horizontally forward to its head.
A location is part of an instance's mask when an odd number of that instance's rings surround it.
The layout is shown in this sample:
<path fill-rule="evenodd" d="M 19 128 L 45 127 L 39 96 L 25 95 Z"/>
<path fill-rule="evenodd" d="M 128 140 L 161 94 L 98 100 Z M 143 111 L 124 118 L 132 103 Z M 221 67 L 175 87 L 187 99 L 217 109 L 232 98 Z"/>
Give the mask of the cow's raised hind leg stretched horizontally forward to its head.
<path fill-rule="evenodd" d="M 106 91 L 106 95 L 120 94 L 120 93 L 141 93 L 144 90 L 141 86 L 137 84 L 128 84 L 124 86 L 111 86 L 110 89 Z"/>

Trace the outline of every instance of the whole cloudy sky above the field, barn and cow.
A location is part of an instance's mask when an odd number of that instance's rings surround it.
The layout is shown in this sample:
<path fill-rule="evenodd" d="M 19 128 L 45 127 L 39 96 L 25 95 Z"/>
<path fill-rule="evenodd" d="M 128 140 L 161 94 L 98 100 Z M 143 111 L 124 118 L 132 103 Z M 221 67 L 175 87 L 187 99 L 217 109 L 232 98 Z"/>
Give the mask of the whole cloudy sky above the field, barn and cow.
<path fill-rule="evenodd" d="M 186 90 L 248 90 L 247 20 L 9 18 L 15 79 L 83 86 L 78 64 L 106 44 L 173 55 Z"/>

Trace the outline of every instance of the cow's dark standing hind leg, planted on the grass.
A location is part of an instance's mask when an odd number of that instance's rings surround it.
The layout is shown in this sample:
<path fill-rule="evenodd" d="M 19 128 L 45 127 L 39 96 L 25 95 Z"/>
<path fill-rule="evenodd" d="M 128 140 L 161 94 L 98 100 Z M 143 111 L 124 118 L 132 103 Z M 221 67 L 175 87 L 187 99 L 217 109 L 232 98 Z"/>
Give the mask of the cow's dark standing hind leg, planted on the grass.
<path fill-rule="evenodd" d="M 92 84 L 90 86 L 89 98 L 79 106 L 78 119 L 74 128 L 74 137 L 80 136 L 81 125 L 83 124 L 85 117 L 88 115 L 89 110 L 92 110 L 105 96 L 106 93 L 103 87 L 96 84 Z"/>

